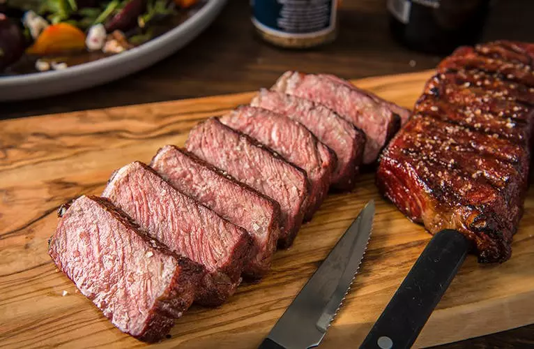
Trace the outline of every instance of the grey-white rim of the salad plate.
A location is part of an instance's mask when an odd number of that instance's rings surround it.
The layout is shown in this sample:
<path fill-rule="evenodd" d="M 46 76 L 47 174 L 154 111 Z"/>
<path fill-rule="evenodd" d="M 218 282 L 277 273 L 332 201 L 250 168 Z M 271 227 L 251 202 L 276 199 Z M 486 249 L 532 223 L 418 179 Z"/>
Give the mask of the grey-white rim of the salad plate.
<path fill-rule="evenodd" d="M 188 20 L 131 50 L 65 70 L 0 77 L 0 101 L 20 101 L 64 94 L 119 79 L 164 59 L 206 29 L 227 0 L 208 0 Z"/>

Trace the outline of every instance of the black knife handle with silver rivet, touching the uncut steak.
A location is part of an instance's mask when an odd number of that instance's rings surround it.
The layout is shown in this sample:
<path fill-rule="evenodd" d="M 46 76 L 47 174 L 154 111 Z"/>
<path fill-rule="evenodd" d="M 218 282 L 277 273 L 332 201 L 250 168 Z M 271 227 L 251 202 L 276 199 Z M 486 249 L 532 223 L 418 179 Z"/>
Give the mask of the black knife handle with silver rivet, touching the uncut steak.
<path fill-rule="evenodd" d="M 471 246 L 456 230 L 434 235 L 360 348 L 411 348 Z"/>

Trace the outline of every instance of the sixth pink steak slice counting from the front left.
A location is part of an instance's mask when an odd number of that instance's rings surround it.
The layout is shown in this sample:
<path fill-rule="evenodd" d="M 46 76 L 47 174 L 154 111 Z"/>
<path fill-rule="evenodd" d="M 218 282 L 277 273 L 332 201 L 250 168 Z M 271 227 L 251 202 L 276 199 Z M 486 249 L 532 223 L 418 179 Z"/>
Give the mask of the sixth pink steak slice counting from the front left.
<path fill-rule="evenodd" d="M 365 133 L 324 105 L 277 91 L 261 89 L 250 105 L 284 114 L 306 126 L 337 156 L 337 166 L 331 177 L 333 188 L 354 188 L 363 159 Z"/>

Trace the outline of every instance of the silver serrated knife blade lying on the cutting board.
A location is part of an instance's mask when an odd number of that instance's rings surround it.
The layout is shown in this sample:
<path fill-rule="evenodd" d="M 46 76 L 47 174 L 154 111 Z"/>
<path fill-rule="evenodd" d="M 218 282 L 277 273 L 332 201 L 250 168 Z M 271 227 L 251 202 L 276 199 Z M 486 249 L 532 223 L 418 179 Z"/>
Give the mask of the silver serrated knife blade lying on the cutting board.
<path fill-rule="evenodd" d="M 293 299 L 260 349 L 319 346 L 356 277 L 371 236 L 373 218 L 371 200 Z"/>

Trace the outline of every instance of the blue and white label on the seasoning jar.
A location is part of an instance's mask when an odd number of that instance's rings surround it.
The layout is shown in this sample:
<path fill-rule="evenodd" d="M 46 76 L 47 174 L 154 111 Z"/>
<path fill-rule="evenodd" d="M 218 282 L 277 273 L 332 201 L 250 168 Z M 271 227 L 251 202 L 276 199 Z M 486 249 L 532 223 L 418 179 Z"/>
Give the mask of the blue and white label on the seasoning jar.
<path fill-rule="evenodd" d="M 335 29 L 336 0 L 252 0 L 252 23 L 275 36 L 307 38 Z"/>

